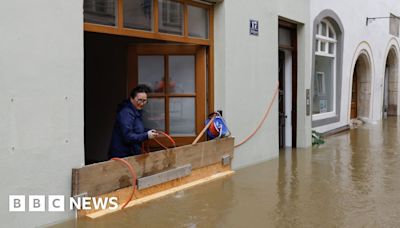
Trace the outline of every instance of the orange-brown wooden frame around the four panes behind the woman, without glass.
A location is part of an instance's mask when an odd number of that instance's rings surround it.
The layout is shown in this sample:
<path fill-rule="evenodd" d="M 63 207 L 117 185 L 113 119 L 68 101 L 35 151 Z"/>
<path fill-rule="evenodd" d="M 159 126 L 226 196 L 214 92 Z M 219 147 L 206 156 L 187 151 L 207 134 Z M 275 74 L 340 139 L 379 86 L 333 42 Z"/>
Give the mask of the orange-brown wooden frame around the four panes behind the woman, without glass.
<path fill-rule="evenodd" d="M 162 95 L 162 97 L 194 97 L 195 98 L 195 133 L 200 133 L 204 126 L 206 114 L 206 47 L 200 45 L 166 45 L 166 44 L 149 44 L 149 45 L 131 45 L 128 48 L 128 69 L 127 69 L 127 95 L 129 91 L 138 84 L 138 56 L 139 55 L 164 55 L 165 72 L 168 80 L 168 55 L 195 55 L 195 93 L 190 95 L 173 94 Z M 168 86 L 167 86 L 168 87 Z M 160 97 L 161 95 L 149 94 L 149 97 Z M 165 103 L 165 119 L 166 131 L 169 129 L 169 103 L 166 99 Z M 192 143 L 196 136 L 173 136 L 174 140 L 179 145 L 186 145 Z M 205 140 L 205 137 L 202 138 Z M 159 141 L 165 145 L 170 142 L 165 138 L 160 138 Z M 155 145 L 154 142 L 150 143 L 151 146 Z"/>

